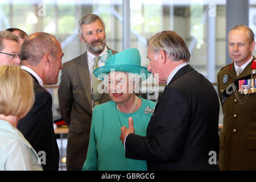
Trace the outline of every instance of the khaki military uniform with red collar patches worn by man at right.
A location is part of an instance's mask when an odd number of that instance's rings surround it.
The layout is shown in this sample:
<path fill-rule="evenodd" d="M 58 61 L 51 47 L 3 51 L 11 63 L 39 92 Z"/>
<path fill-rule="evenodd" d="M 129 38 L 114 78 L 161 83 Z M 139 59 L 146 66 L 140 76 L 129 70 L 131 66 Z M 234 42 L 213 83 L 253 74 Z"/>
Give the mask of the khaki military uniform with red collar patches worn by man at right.
<path fill-rule="evenodd" d="M 250 79 L 256 69 L 256 60 L 236 75 L 234 64 L 226 65 L 218 72 L 218 94 L 221 94 L 235 80 Z M 248 78 L 249 77 L 249 78 Z M 253 79 L 256 75 L 253 74 Z M 242 100 L 246 94 L 237 92 Z M 223 129 L 220 133 L 220 155 L 218 164 L 221 170 L 256 170 L 256 93 L 250 93 L 245 104 L 238 101 L 235 93 L 222 103 L 224 113 Z"/>

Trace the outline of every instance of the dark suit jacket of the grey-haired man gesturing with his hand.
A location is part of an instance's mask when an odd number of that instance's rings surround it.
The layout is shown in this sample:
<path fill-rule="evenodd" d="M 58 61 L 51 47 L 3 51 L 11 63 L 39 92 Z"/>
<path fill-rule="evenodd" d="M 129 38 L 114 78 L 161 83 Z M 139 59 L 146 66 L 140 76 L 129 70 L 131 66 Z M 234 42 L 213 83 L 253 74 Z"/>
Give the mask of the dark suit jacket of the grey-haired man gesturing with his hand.
<path fill-rule="evenodd" d="M 147 160 L 148 170 L 218 169 L 208 160 L 210 151 L 218 157 L 219 110 L 212 84 L 186 65 L 164 89 L 146 137 L 127 136 L 126 158 Z"/>

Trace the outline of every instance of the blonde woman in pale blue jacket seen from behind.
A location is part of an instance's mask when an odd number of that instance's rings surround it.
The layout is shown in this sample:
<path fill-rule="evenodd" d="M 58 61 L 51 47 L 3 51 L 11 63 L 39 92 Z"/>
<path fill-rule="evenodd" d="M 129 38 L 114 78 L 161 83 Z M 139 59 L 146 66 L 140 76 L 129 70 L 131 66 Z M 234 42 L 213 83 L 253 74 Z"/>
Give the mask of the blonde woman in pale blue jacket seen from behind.
<path fill-rule="evenodd" d="M 0 66 L 0 170 L 42 170 L 38 155 L 17 127 L 34 104 L 30 75 L 19 67 Z"/>

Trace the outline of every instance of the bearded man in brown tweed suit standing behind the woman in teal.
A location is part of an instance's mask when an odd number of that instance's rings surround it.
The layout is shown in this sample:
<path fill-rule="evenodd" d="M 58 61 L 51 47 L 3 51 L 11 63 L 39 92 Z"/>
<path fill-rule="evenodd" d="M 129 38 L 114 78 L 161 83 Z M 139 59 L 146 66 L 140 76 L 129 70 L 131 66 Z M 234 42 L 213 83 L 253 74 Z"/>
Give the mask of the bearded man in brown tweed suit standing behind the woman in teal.
<path fill-rule="evenodd" d="M 60 114 L 69 128 L 67 170 L 82 169 L 89 145 L 93 106 L 111 100 L 109 94 L 98 93 L 97 85 L 93 84 L 93 80 L 97 80 L 93 69 L 104 65 L 97 58 L 108 53 L 109 49 L 106 46 L 105 24 L 100 16 L 82 16 L 79 37 L 87 51 L 63 64 L 58 90 Z"/>

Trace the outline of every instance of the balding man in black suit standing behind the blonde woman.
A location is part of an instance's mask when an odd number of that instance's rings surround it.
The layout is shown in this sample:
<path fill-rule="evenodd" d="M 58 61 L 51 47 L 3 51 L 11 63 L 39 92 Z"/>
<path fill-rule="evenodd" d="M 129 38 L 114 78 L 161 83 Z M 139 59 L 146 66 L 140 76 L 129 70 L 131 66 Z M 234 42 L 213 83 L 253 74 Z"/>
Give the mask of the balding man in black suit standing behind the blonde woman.
<path fill-rule="evenodd" d="M 52 119 L 52 97 L 43 88 L 58 81 L 63 51 L 52 35 L 37 32 L 28 36 L 21 48 L 22 69 L 34 78 L 35 104 L 17 128 L 38 152 L 44 170 L 59 169 L 57 146 Z"/>

